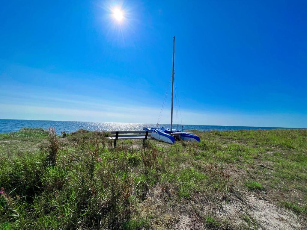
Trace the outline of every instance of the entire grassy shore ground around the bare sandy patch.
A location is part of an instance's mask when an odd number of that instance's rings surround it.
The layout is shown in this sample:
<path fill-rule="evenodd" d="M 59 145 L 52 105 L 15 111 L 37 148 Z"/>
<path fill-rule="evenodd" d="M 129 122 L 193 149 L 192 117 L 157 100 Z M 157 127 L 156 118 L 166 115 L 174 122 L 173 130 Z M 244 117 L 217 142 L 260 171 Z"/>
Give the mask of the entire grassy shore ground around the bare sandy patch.
<path fill-rule="evenodd" d="M 307 224 L 307 130 L 208 131 L 200 143 L 115 149 L 108 134 L 0 134 L 0 229 L 176 229 L 183 214 L 203 228 L 256 229 L 251 213 L 238 217 L 243 227 L 217 214 L 248 194 Z"/>

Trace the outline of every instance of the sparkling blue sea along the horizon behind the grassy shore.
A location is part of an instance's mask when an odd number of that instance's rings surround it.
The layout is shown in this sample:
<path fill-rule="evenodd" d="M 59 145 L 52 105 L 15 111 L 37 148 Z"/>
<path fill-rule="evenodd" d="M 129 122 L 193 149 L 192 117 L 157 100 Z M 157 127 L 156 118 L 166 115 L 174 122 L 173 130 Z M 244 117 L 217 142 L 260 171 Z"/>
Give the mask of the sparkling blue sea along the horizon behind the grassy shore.
<path fill-rule="evenodd" d="M 40 120 L 11 120 L 0 119 L 0 133 L 16 132 L 21 128 L 48 128 L 54 127 L 56 133 L 61 131 L 72 132 L 80 128 L 98 131 L 139 131 L 143 127 L 156 127 L 157 124 L 147 123 L 120 123 L 120 122 L 86 122 L 86 121 L 40 121 Z M 170 124 L 159 124 L 159 127 L 170 128 Z M 280 127 L 254 127 L 254 126 L 222 126 L 222 125 L 174 125 L 173 128 L 179 130 L 197 129 L 201 131 L 208 130 L 240 130 L 240 129 L 275 129 Z"/>

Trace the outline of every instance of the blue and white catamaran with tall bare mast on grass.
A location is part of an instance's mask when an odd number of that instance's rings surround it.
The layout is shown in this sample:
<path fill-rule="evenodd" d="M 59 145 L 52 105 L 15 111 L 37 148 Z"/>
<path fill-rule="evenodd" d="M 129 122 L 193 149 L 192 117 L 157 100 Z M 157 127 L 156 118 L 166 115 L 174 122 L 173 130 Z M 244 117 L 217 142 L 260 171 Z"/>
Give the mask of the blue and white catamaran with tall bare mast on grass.
<path fill-rule="evenodd" d="M 144 130 L 151 131 L 152 138 L 167 142 L 169 144 L 174 144 L 176 139 L 200 142 L 200 138 L 194 134 L 183 132 L 178 129 L 173 129 L 174 60 L 175 60 L 175 37 L 173 37 L 171 127 L 170 128 L 158 128 L 159 124 L 157 124 L 156 128 L 144 127 Z"/>

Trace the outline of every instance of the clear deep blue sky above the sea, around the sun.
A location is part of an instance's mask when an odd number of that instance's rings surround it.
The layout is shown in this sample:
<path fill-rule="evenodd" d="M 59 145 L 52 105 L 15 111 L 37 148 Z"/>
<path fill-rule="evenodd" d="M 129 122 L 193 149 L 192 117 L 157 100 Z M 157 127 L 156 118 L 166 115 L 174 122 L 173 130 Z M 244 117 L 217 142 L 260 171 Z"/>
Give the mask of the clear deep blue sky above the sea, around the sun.
<path fill-rule="evenodd" d="M 306 9 L 306 1 L 2 2 L 0 118 L 155 123 L 176 36 L 184 124 L 307 127 Z M 160 123 L 169 117 L 170 94 Z"/>

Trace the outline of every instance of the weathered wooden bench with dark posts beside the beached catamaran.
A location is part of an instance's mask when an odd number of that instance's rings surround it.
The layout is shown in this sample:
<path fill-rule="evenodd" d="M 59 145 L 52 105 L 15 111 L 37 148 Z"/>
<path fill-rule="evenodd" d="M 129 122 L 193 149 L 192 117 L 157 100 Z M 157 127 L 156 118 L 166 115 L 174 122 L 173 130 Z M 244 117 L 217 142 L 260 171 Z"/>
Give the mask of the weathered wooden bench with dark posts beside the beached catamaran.
<path fill-rule="evenodd" d="M 151 137 L 151 131 L 111 131 L 109 136 L 110 140 L 114 140 L 114 148 L 116 147 L 117 140 L 127 140 L 127 139 L 143 139 Z"/>

